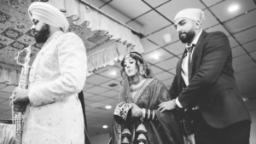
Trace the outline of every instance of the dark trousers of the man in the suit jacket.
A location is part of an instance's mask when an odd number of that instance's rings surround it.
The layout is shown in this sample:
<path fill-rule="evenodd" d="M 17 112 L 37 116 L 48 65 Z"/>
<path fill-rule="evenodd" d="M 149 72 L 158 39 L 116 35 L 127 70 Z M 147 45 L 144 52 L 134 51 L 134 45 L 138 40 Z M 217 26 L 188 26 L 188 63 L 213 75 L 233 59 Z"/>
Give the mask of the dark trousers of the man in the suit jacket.
<path fill-rule="evenodd" d="M 217 129 L 207 124 L 200 111 L 196 111 L 194 116 L 196 144 L 249 144 L 251 129 L 249 120 Z"/>

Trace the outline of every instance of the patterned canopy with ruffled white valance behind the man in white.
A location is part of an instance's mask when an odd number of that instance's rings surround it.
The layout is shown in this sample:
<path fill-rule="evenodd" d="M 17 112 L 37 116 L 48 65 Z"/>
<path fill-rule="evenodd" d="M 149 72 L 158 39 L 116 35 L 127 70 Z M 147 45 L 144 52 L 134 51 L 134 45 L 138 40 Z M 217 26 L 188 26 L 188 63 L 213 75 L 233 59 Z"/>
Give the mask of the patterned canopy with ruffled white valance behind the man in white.
<path fill-rule="evenodd" d="M 44 43 L 35 43 L 27 9 L 31 0 L 0 0 L 0 62 L 16 66 L 17 51 L 32 45 L 32 61 Z M 82 38 L 88 56 L 88 76 L 104 66 L 113 66 L 131 49 L 143 53 L 140 38 L 96 9 L 78 0 L 49 0 L 67 16 L 69 32 Z M 111 54 L 111 55 L 110 55 Z M 1 74 L 1 73 L 0 73 Z"/>

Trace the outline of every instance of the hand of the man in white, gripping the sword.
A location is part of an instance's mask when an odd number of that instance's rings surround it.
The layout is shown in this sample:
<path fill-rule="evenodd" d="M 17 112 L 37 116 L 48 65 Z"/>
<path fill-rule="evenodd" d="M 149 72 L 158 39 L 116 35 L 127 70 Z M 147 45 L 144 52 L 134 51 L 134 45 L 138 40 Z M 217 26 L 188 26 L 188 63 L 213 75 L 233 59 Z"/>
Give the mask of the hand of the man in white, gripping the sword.
<path fill-rule="evenodd" d="M 28 99 L 28 89 L 21 89 L 19 87 L 17 87 L 14 92 L 13 95 L 10 96 L 10 102 L 11 103 L 29 103 L 29 99 Z"/>

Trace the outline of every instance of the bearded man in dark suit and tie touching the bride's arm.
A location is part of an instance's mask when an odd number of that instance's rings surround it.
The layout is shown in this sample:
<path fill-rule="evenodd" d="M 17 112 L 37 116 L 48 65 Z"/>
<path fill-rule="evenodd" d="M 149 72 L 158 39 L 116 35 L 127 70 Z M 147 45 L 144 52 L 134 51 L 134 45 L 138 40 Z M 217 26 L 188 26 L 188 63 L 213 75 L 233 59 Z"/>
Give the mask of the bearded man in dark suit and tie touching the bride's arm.
<path fill-rule="evenodd" d="M 159 109 L 183 113 L 183 130 L 195 135 L 193 143 L 249 144 L 251 118 L 236 86 L 229 39 L 223 32 L 202 31 L 203 20 L 201 9 L 183 9 L 175 17 L 186 49 L 170 89 L 176 99 Z"/>

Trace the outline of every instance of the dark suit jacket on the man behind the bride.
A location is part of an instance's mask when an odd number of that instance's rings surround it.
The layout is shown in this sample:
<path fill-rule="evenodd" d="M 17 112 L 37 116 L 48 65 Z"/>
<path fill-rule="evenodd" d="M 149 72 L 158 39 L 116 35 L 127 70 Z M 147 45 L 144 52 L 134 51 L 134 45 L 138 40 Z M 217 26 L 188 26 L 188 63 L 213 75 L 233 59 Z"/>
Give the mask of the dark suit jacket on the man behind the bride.
<path fill-rule="evenodd" d="M 189 85 L 184 89 L 182 60 L 177 62 L 170 92 L 184 108 L 199 106 L 203 118 L 215 128 L 250 120 L 236 86 L 229 39 L 223 32 L 201 33 L 192 55 Z"/>

